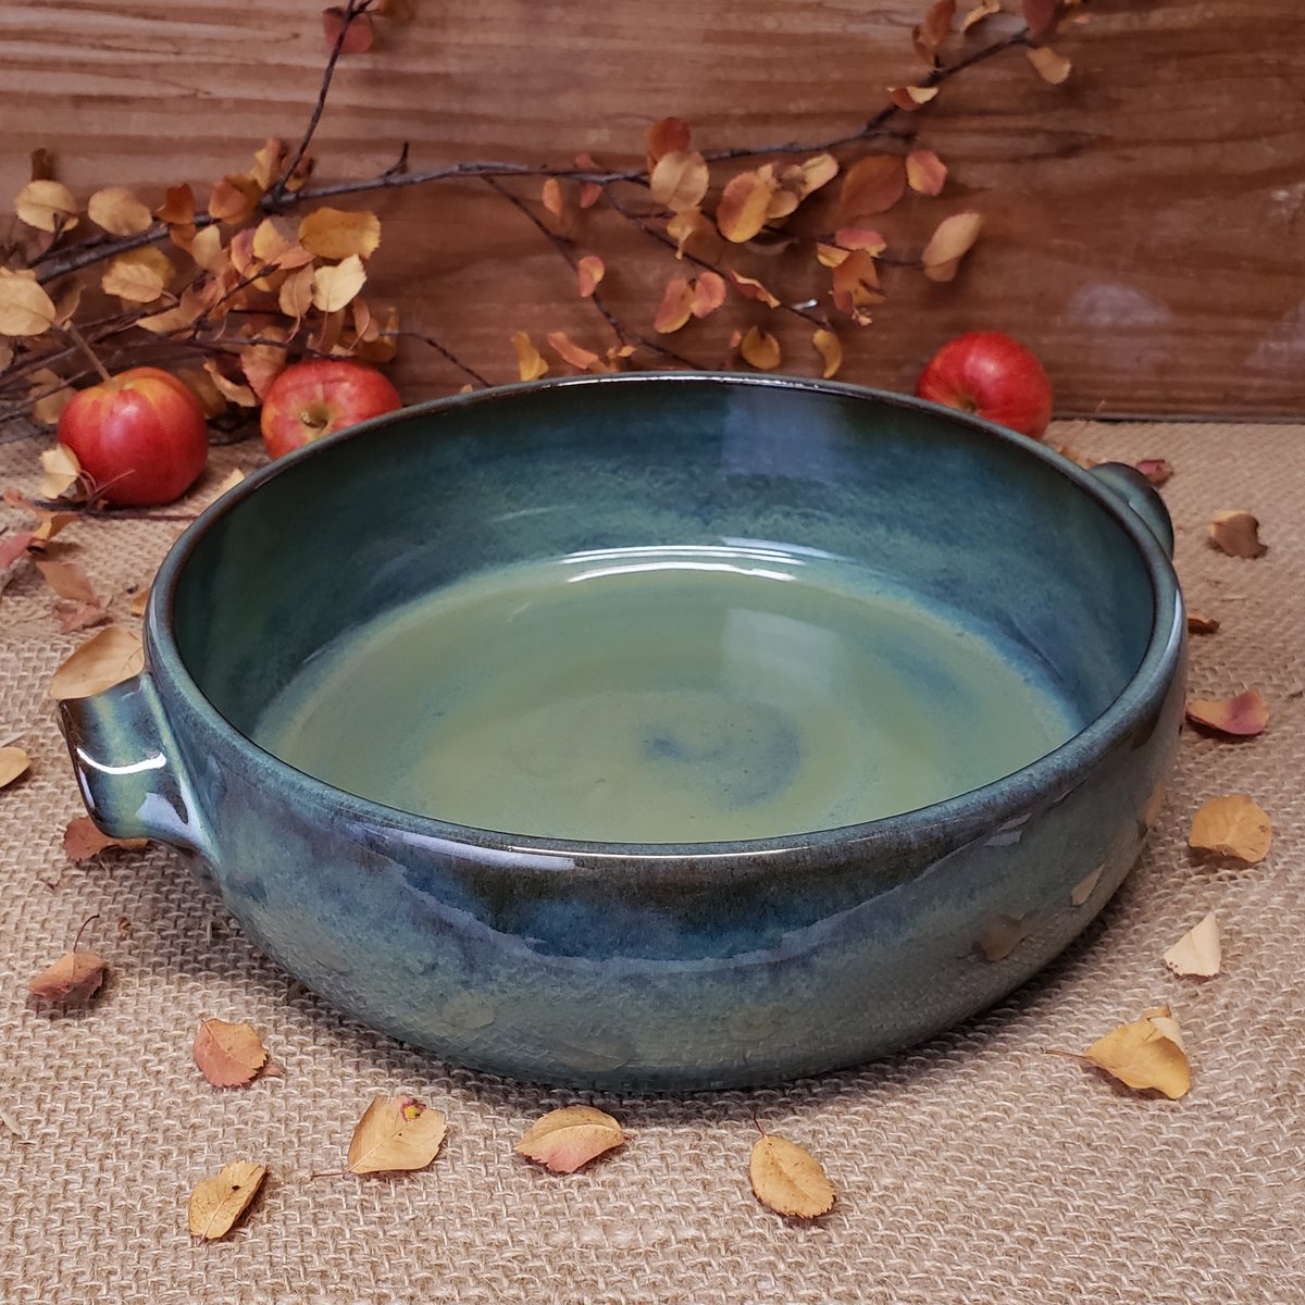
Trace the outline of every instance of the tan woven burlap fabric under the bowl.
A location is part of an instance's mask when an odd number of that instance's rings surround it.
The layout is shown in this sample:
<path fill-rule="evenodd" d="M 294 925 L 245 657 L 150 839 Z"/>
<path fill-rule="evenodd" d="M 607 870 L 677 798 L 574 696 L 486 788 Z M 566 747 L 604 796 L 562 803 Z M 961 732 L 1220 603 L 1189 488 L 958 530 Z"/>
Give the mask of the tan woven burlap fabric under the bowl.
<path fill-rule="evenodd" d="M 1173 462 L 1178 569 L 1223 621 L 1193 641 L 1193 689 L 1258 686 L 1270 729 L 1185 737 L 1142 864 L 998 1009 L 773 1091 L 577 1098 L 449 1069 L 278 972 L 167 851 L 70 864 L 61 833 L 81 806 L 46 685 L 84 636 L 60 636 L 50 592 L 18 574 L 0 598 L 0 737 L 21 732 L 33 769 L 0 792 L 4 1305 L 1305 1301 L 1305 429 L 1064 424 L 1058 438 Z M 226 450 L 219 472 L 251 450 Z M 33 441 L 0 448 L 0 484 L 34 487 L 34 458 Z M 1261 518 L 1266 557 L 1207 547 L 1206 521 L 1233 506 Z M 180 529 L 85 522 L 64 538 L 102 591 L 121 591 Z M 1201 861 L 1185 847 L 1193 809 L 1240 791 L 1272 814 L 1272 852 L 1245 869 Z M 1174 977 L 1161 951 L 1211 908 L 1227 972 Z M 111 964 L 106 988 L 84 1013 L 34 1010 L 26 977 L 95 912 L 86 945 Z M 1043 1054 L 1163 1001 L 1194 1066 L 1181 1101 Z M 201 1015 L 252 1022 L 283 1077 L 209 1087 L 191 1060 Z M 449 1114 L 435 1165 L 315 1177 L 339 1168 L 369 1099 L 401 1091 Z M 616 1113 L 629 1144 L 572 1177 L 513 1155 L 534 1116 L 576 1099 Z M 803 1225 L 757 1205 L 754 1117 L 825 1161 L 829 1216 Z M 269 1165 L 264 1194 L 230 1240 L 194 1244 L 191 1188 L 240 1158 Z"/>

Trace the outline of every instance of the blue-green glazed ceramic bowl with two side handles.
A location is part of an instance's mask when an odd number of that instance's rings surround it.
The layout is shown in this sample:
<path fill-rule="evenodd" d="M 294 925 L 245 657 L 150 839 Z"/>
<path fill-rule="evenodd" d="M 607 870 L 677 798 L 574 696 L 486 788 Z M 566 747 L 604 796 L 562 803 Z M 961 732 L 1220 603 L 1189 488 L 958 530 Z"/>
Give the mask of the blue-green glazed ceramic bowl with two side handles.
<path fill-rule="evenodd" d="M 145 672 L 61 720 L 102 829 L 376 1028 L 766 1083 L 972 1015 L 1118 887 L 1178 736 L 1172 542 L 1130 468 L 899 395 L 512 386 L 226 493 Z"/>

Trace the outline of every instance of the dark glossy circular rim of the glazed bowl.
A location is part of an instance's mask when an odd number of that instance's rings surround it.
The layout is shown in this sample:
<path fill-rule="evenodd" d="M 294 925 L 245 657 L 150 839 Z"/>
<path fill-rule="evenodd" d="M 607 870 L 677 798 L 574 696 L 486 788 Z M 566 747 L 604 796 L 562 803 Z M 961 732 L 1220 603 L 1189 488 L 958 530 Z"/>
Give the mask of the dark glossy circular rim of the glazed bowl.
<path fill-rule="evenodd" d="M 979 431 L 1017 452 L 1044 462 L 1052 471 L 1069 480 L 1077 489 L 1095 500 L 1131 539 L 1146 566 L 1151 583 L 1151 632 L 1141 662 L 1109 706 L 1087 726 L 1052 752 L 1027 766 L 989 780 L 977 788 L 957 793 L 938 803 L 908 812 L 883 816 L 853 825 L 810 830 L 799 834 L 760 839 L 732 839 L 701 843 L 624 843 L 591 842 L 585 839 L 514 834 L 459 825 L 433 816 L 422 816 L 403 808 L 389 806 L 372 799 L 360 797 L 346 790 L 299 770 L 256 744 L 238 729 L 207 699 L 187 669 L 174 632 L 176 590 L 185 565 L 200 540 L 213 526 L 231 513 L 260 487 L 292 474 L 305 458 L 322 450 L 368 435 L 389 425 L 397 425 L 414 416 L 444 414 L 502 398 L 564 389 L 589 389 L 609 385 L 726 385 L 757 389 L 784 389 L 812 392 L 822 395 L 876 401 L 891 407 L 908 408 L 944 418 L 954 424 Z M 1091 771 L 1096 762 L 1128 739 L 1168 692 L 1173 673 L 1181 662 L 1185 642 L 1182 596 L 1172 561 L 1155 534 L 1142 517 L 1122 497 L 1111 491 L 1103 480 L 1077 466 L 1069 458 L 1045 444 L 996 425 L 970 412 L 944 407 L 914 395 L 880 390 L 872 386 L 843 381 L 825 381 L 814 377 L 773 375 L 754 376 L 745 372 L 619 372 L 599 376 L 566 376 L 542 381 L 492 386 L 428 399 L 356 425 L 328 435 L 303 445 L 288 454 L 273 459 L 211 502 L 177 538 L 163 562 L 150 590 L 145 615 L 146 671 L 161 683 L 161 688 L 174 690 L 188 711 L 209 729 L 224 737 L 236 752 L 244 753 L 252 765 L 271 767 L 278 776 L 275 791 L 286 795 L 284 784 L 292 786 L 313 806 L 329 818 L 342 816 L 373 829 L 399 830 L 432 846 L 450 852 L 465 850 L 492 860 L 493 853 L 506 855 L 512 864 L 531 863 L 536 868 L 609 868 L 613 861 L 659 865 L 667 869 L 720 863 L 728 859 L 740 864 L 792 861 L 809 864 L 810 855 L 830 846 L 859 848 L 865 853 L 886 847 L 902 847 L 920 842 L 934 842 L 940 834 L 949 842 L 963 844 L 970 838 L 981 837 L 994 826 L 1027 814 L 1028 809 L 1048 796 L 1058 799 Z M 164 692 L 164 703 L 168 694 Z M 167 714 L 167 706 L 164 705 Z M 218 851 L 221 852 L 221 838 Z M 714 867 L 719 873 L 720 867 Z"/>

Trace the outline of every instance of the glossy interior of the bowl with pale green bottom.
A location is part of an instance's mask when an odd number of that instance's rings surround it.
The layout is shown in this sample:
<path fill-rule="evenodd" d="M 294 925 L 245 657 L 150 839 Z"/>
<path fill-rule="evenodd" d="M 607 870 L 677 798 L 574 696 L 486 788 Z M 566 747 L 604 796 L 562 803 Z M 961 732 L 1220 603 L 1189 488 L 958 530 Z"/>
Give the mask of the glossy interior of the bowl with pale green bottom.
<path fill-rule="evenodd" d="M 339 788 L 679 843 L 998 779 L 1114 701 L 1154 606 L 1118 521 L 1018 440 L 864 393 L 633 377 L 273 467 L 200 535 L 174 616 L 213 706 Z"/>

